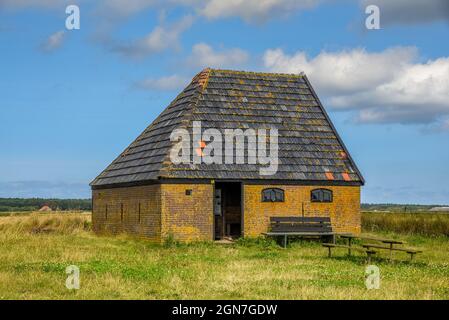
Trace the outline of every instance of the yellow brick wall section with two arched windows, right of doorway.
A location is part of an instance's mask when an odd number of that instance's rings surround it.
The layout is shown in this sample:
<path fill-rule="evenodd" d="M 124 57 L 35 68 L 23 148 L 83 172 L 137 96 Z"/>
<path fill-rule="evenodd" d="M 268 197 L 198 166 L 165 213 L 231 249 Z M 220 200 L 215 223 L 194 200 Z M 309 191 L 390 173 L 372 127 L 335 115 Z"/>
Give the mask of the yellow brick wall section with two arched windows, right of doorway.
<path fill-rule="evenodd" d="M 281 188 L 285 202 L 262 202 L 265 188 Z M 361 231 L 360 187 L 323 187 L 333 191 L 332 203 L 310 202 L 310 192 L 318 186 L 244 185 L 244 235 L 258 236 L 267 232 L 270 217 L 304 216 L 330 217 L 334 231 L 359 234 Z"/>

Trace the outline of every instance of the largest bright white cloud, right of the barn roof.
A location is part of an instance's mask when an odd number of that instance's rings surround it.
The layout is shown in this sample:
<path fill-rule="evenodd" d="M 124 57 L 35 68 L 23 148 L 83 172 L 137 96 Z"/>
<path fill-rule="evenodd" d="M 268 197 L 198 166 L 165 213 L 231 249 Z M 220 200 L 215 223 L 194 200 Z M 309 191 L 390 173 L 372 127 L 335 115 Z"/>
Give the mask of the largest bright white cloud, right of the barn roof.
<path fill-rule="evenodd" d="M 306 72 L 329 107 L 373 123 L 436 123 L 449 116 L 449 57 L 419 62 L 414 48 L 285 54 L 268 50 L 271 71 Z"/>

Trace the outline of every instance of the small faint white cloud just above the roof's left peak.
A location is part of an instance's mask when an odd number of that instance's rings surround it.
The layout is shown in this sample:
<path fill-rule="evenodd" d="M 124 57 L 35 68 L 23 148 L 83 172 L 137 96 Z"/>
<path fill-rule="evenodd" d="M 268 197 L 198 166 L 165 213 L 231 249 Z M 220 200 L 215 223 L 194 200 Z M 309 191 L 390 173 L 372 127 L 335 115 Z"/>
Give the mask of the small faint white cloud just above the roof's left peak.
<path fill-rule="evenodd" d="M 248 53 L 239 48 L 216 51 L 206 43 L 197 43 L 193 46 L 187 62 L 195 68 L 229 68 L 243 65 L 248 58 Z"/>

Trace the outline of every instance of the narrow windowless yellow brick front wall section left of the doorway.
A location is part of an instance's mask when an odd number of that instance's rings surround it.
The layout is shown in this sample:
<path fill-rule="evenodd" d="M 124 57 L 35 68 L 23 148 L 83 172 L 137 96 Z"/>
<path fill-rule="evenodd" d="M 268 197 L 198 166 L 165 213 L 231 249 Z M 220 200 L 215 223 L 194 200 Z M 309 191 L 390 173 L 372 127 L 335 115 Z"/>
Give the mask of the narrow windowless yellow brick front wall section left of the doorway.
<path fill-rule="evenodd" d="M 186 195 L 186 190 L 192 190 Z M 213 239 L 212 184 L 162 184 L 162 238 L 210 241 Z"/>

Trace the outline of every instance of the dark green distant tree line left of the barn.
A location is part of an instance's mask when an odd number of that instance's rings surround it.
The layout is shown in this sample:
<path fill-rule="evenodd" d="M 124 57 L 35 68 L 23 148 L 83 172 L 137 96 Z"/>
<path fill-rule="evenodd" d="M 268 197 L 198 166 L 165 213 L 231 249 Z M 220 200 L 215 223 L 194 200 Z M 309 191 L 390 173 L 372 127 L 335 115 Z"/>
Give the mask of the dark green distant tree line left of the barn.
<path fill-rule="evenodd" d="M 53 210 L 92 210 L 91 199 L 0 198 L 0 212 L 36 211 L 43 206 Z"/>

